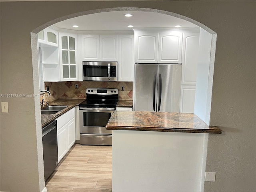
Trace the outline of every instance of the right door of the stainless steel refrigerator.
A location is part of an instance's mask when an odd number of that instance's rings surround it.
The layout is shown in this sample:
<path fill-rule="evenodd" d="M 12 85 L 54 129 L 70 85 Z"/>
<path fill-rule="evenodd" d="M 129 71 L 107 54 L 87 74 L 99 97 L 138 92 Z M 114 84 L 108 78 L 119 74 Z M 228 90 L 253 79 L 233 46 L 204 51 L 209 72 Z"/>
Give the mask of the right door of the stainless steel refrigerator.
<path fill-rule="evenodd" d="M 158 71 L 157 111 L 180 112 L 182 65 L 159 64 Z"/>

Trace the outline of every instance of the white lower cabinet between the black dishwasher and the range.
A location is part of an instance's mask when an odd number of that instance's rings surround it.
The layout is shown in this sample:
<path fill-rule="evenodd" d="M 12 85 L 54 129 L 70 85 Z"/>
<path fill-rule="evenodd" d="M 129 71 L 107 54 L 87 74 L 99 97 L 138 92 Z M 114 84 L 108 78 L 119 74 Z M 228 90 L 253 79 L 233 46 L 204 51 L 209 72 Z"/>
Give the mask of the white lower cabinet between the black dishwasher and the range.
<path fill-rule="evenodd" d="M 58 162 L 67 154 L 76 141 L 75 109 L 57 118 Z"/>

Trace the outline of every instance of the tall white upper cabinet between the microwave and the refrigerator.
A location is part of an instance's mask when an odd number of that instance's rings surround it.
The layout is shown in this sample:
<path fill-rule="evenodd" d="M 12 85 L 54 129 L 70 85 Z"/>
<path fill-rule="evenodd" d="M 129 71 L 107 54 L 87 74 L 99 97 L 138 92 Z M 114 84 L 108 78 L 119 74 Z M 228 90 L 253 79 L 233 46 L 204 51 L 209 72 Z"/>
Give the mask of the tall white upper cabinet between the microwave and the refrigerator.
<path fill-rule="evenodd" d="M 118 81 L 134 79 L 134 36 L 118 35 Z"/>

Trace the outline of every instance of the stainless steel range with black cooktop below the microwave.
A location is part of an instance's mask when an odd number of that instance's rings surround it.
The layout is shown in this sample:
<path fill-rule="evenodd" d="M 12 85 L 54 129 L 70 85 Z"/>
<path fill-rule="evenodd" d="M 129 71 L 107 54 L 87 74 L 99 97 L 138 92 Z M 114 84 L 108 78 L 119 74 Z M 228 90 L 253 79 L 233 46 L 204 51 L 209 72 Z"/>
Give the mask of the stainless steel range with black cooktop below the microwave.
<path fill-rule="evenodd" d="M 117 102 L 118 89 L 86 89 L 86 101 L 79 105 L 81 145 L 112 145 L 112 130 L 105 127 Z"/>

